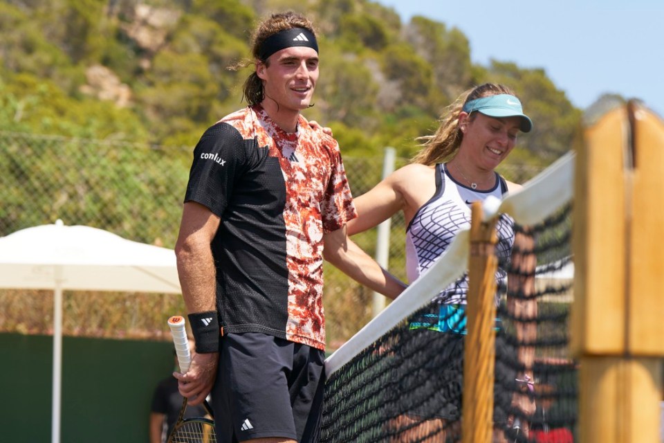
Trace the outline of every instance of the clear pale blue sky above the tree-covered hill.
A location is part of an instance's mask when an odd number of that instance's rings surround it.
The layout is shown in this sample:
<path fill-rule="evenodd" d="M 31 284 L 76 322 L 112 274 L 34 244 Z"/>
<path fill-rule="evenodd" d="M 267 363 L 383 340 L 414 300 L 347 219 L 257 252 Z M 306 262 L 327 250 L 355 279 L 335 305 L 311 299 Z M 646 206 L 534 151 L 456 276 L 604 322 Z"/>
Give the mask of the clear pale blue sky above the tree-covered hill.
<path fill-rule="evenodd" d="M 473 62 L 544 69 L 576 107 L 618 93 L 664 118 L 664 0 L 377 1 L 404 23 L 423 15 L 459 28 Z"/>

